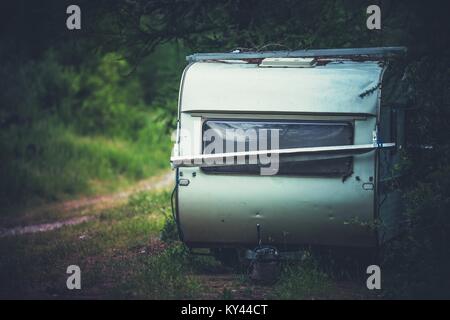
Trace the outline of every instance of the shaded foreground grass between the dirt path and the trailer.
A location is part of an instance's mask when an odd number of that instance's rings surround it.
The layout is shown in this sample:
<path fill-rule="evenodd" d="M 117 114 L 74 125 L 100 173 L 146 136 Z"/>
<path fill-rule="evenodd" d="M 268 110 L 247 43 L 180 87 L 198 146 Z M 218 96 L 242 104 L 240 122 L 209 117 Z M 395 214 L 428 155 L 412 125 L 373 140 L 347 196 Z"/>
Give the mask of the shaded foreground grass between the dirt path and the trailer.
<path fill-rule="evenodd" d="M 158 240 L 168 192 L 132 197 L 99 218 L 55 231 L 0 239 L 0 296 L 7 298 L 192 298 L 199 262 L 179 242 Z M 82 290 L 66 288 L 81 268 Z"/>

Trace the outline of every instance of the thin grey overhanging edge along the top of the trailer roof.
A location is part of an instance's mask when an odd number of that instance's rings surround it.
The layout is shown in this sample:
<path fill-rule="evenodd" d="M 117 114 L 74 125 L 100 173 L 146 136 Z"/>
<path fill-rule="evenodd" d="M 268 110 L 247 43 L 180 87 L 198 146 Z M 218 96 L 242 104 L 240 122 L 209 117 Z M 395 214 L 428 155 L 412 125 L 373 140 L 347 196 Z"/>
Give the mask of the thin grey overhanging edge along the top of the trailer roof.
<path fill-rule="evenodd" d="M 376 56 L 391 57 L 405 54 L 406 47 L 373 47 L 373 48 L 342 48 L 342 49 L 310 49 L 294 51 L 248 51 L 225 53 L 194 53 L 186 56 L 188 62 L 205 60 L 242 60 L 264 58 L 302 58 L 302 57 L 346 57 L 346 56 Z"/>

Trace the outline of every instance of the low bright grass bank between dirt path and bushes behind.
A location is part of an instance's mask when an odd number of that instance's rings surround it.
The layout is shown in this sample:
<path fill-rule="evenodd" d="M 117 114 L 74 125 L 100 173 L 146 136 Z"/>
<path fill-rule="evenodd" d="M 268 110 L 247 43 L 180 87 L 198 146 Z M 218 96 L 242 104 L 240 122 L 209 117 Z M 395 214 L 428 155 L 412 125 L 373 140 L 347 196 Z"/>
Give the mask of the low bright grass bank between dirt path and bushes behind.
<path fill-rule="evenodd" d="M 137 139 L 84 136 L 51 119 L 2 132 L 0 214 L 109 193 L 168 168 L 169 138 L 148 121 Z"/>

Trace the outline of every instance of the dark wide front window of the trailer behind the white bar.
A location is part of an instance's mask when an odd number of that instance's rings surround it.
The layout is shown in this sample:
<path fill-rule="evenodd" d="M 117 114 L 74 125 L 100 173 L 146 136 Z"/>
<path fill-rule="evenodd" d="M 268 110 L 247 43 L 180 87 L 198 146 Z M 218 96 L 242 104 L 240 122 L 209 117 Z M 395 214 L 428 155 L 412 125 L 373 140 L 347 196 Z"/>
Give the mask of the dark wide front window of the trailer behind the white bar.
<path fill-rule="evenodd" d="M 210 139 L 211 130 L 215 133 L 215 137 L 221 137 L 223 153 L 259 150 L 258 141 L 262 137 L 262 129 L 266 129 L 266 132 L 278 130 L 279 149 L 353 144 L 353 125 L 350 122 L 207 120 L 203 123 L 203 153 L 216 153 L 208 150 L 209 144 L 214 142 Z M 233 135 L 227 132 L 233 132 Z M 270 133 L 267 136 L 270 137 Z M 239 143 L 241 149 L 239 149 Z M 243 146 L 245 150 L 242 150 Z M 232 147 L 231 150 L 230 147 Z M 270 139 L 267 139 L 266 150 L 269 149 L 272 149 L 272 143 Z M 352 170 L 352 157 L 300 162 L 290 161 L 288 155 L 280 157 L 284 157 L 280 159 L 282 162 L 278 171 L 278 174 L 282 175 L 343 176 L 348 175 Z M 259 174 L 260 166 L 257 164 L 223 165 L 203 167 L 202 170 L 208 173 Z"/>

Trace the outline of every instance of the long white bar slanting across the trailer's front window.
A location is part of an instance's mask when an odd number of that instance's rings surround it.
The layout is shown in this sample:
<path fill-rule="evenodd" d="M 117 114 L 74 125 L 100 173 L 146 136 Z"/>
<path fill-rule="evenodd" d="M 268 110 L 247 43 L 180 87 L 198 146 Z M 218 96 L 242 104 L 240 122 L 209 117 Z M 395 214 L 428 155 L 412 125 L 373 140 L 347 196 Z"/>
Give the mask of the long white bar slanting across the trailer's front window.
<path fill-rule="evenodd" d="M 250 157 L 260 155 L 292 155 L 289 161 L 308 161 L 319 159 L 334 159 L 348 157 L 352 155 L 367 153 L 375 149 L 393 148 L 395 143 L 374 143 L 374 144 L 357 144 L 345 146 L 327 146 L 327 147 L 308 147 L 308 148 L 290 148 L 276 150 L 258 150 L 258 151 L 240 151 L 217 154 L 199 154 L 187 156 L 173 156 L 170 162 L 174 168 L 179 167 L 210 167 L 210 166 L 229 166 L 243 165 L 239 161 L 226 161 L 234 157 Z M 245 158 L 244 158 L 245 159 Z M 276 161 L 276 160 L 275 160 Z"/>

